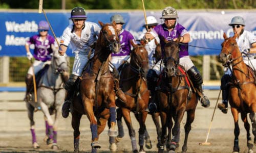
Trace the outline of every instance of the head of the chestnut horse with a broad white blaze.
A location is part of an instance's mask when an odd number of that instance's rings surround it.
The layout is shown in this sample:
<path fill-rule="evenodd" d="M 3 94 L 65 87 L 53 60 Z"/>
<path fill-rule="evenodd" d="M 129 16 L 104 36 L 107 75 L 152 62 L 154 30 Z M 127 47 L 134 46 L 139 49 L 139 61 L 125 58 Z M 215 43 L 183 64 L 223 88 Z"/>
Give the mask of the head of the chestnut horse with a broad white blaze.
<path fill-rule="evenodd" d="M 116 30 L 116 22 L 114 21 L 112 24 L 110 23 L 102 23 L 98 21 L 101 30 L 99 34 L 99 38 L 97 44 L 101 45 L 101 48 L 108 51 L 107 54 L 117 53 L 120 50 L 119 37 Z"/>

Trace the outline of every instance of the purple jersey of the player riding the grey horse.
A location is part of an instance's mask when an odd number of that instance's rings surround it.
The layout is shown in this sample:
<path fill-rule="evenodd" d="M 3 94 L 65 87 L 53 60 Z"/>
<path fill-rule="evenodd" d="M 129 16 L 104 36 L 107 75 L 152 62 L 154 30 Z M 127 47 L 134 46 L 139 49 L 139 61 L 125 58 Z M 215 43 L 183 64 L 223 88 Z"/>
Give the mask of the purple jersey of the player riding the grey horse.
<path fill-rule="evenodd" d="M 39 35 L 34 35 L 30 37 L 27 44 L 35 45 L 33 56 L 36 60 L 42 62 L 51 60 L 51 44 L 54 44 L 54 38 L 52 36 L 48 34 L 46 40 L 41 40 Z"/>

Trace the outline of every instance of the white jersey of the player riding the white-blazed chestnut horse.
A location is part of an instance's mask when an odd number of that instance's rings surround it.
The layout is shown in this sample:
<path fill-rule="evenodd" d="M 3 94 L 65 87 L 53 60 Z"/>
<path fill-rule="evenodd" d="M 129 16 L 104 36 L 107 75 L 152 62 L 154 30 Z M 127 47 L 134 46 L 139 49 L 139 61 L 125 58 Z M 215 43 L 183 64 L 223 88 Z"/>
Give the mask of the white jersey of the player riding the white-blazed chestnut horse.
<path fill-rule="evenodd" d="M 73 23 L 70 24 L 60 37 L 60 44 L 71 47 L 72 53 L 82 52 L 88 54 L 90 45 L 98 39 L 100 27 L 94 22 L 86 21 L 85 26 L 82 29 L 81 37 L 78 37 L 75 32 L 71 32 L 73 29 Z"/>

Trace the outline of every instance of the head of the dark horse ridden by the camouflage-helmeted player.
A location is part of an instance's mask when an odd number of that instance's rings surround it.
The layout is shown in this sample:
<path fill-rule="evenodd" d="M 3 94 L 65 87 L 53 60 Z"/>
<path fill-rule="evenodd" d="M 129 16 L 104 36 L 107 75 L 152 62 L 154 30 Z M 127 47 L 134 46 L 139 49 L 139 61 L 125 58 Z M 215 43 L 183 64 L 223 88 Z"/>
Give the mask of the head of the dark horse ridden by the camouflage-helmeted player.
<path fill-rule="evenodd" d="M 167 41 L 164 46 L 164 65 L 167 78 L 176 77 L 179 64 L 179 39 L 176 41 Z"/>

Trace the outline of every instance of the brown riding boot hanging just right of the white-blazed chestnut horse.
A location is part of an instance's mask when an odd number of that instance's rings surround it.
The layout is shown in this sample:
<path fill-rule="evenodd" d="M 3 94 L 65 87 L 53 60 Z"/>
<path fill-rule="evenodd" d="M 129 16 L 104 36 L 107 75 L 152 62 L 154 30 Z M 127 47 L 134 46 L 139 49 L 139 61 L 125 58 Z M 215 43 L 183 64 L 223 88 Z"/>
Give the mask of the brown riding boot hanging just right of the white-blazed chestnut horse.
<path fill-rule="evenodd" d="M 119 73 L 117 71 L 117 69 L 114 67 L 113 68 L 113 77 L 114 77 L 114 84 L 115 84 L 115 92 L 116 92 L 116 96 L 117 98 L 122 102 L 122 103 L 126 103 L 127 99 L 125 97 L 125 94 L 123 93 L 123 91 L 119 88 Z"/>

